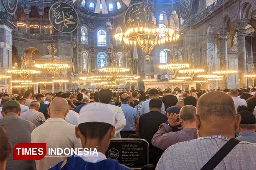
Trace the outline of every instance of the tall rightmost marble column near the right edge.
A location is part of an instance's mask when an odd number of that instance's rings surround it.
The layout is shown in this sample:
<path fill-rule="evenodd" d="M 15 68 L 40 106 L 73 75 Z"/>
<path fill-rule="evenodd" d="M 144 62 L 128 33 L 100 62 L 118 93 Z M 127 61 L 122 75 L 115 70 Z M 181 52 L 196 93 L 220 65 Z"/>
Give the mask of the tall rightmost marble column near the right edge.
<path fill-rule="evenodd" d="M 244 23 L 247 25 L 247 23 Z M 237 54 L 238 54 L 238 84 L 239 88 L 247 88 L 246 75 L 246 50 L 245 50 L 245 27 L 237 29 Z"/>

